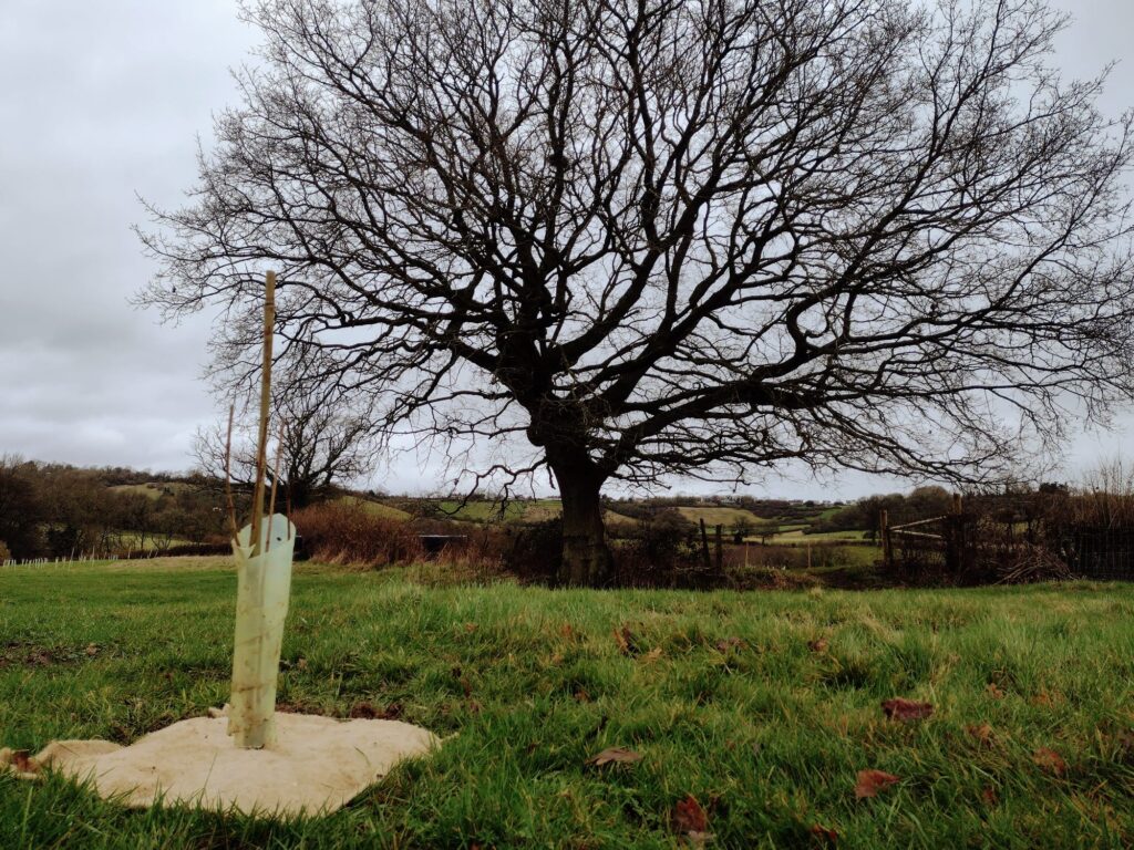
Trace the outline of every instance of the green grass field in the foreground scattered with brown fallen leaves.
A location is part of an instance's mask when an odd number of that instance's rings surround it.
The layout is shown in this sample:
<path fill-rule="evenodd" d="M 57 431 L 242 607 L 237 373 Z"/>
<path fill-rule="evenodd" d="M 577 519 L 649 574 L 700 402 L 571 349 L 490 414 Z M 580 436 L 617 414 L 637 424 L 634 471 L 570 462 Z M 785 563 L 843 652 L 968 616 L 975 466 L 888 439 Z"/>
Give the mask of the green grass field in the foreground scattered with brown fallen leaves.
<path fill-rule="evenodd" d="M 128 742 L 225 702 L 222 563 L 0 570 L 0 742 Z M 687 794 L 708 847 L 1134 843 L 1131 586 L 555 592 L 302 566 L 281 666 L 290 709 L 456 737 L 319 821 L 2 776 L 0 847 L 675 848 Z M 890 697 L 936 711 L 886 720 Z M 642 759 L 586 764 L 615 746 Z M 900 779 L 856 799 L 869 768 Z"/>

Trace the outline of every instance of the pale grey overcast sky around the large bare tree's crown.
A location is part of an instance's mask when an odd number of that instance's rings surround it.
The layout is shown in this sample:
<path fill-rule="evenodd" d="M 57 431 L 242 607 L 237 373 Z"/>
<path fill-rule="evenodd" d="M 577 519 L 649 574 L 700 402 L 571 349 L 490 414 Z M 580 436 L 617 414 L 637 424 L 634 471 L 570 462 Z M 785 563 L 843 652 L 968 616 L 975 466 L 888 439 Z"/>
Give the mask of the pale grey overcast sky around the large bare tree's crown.
<path fill-rule="evenodd" d="M 1134 2 L 1059 0 L 1068 76 L 1118 60 L 1102 107 L 1134 105 Z M 236 104 L 228 69 L 255 32 L 232 0 L 0 0 L 0 454 L 183 470 L 214 417 L 200 380 L 208 318 L 160 326 L 128 299 L 153 272 L 130 226 L 136 195 L 179 203 L 212 114 Z M 1065 477 L 1122 452 L 1134 415 L 1083 434 Z M 380 470 L 391 491 L 431 490 L 409 458 Z M 704 485 L 680 488 L 704 490 Z M 852 498 L 892 482 L 771 481 L 756 494 Z"/>

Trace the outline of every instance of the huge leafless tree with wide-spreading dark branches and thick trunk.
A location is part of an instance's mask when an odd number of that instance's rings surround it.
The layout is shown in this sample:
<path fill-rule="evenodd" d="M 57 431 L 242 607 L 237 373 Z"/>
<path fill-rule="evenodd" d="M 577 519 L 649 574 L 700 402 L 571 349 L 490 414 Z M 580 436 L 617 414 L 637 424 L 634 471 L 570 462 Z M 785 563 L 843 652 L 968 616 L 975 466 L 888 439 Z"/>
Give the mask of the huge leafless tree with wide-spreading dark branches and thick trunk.
<path fill-rule="evenodd" d="M 251 17 L 263 62 L 152 211 L 143 300 L 251 316 L 278 269 L 279 333 L 388 423 L 526 436 L 480 474 L 550 468 L 567 581 L 610 579 L 612 478 L 973 479 L 1131 396 L 1131 119 L 1046 65 L 1040 0 Z"/>

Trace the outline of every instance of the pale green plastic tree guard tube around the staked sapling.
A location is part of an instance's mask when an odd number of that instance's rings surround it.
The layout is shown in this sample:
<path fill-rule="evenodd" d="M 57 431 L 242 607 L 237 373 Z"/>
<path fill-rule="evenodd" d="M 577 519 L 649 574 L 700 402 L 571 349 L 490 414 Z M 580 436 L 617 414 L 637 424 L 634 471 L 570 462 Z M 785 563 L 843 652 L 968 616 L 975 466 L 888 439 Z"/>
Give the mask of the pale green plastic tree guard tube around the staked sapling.
<path fill-rule="evenodd" d="M 263 554 L 255 556 L 248 545 L 251 537 L 252 527 L 245 526 L 232 543 L 237 569 L 236 643 L 228 733 L 237 747 L 260 749 L 276 740 L 276 682 L 291 593 L 295 526 L 279 513 L 270 520 L 265 517 L 261 521 Z"/>

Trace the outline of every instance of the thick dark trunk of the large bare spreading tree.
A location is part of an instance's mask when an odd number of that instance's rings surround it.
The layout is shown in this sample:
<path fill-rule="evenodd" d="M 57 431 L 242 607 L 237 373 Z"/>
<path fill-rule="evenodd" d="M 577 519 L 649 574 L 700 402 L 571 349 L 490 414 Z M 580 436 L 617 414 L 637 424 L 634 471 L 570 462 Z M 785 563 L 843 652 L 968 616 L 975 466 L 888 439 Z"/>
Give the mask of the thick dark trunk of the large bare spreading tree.
<path fill-rule="evenodd" d="M 550 454 L 550 452 L 549 452 Z M 606 541 L 599 491 L 604 476 L 589 458 L 551 461 L 562 500 L 564 550 L 559 580 L 575 587 L 609 587 L 615 561 Z"/>

